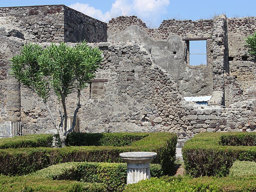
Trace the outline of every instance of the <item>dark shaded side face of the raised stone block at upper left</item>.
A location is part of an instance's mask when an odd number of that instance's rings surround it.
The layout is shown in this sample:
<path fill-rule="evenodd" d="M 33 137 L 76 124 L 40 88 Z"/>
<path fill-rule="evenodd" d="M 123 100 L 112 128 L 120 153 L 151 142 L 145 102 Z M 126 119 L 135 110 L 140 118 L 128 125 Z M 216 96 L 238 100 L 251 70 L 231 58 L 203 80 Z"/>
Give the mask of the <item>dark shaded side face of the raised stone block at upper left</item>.
<path fill-rule="evenodd" d="M 89 43 L 107 41 L 107 23 L 89 17 L 65 6 L 64 13 L 65 42 Z"/>

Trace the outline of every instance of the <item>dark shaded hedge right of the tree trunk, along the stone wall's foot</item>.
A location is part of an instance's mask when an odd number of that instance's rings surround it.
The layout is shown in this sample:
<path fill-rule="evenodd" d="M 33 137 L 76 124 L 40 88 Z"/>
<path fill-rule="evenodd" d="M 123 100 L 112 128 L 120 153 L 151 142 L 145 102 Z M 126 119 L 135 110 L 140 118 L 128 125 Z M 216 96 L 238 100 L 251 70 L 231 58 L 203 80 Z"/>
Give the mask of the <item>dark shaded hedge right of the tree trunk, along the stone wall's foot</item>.
<path fill-rule="evenodd" d="M 70 133 L 67 146 L 130 146 L 135 141 L 147 137 L 148 133 Z"/>

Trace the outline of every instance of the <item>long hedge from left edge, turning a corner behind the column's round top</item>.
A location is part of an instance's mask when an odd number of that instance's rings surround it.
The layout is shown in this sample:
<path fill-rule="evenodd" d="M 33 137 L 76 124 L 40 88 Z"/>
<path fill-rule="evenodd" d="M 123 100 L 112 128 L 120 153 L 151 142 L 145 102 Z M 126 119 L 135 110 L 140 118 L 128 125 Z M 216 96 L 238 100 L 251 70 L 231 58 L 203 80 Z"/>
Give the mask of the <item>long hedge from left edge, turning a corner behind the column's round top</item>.
<path fill-rule="evenodd" d="M 141 133 L 137 134 L 141 135 Z M 120 153 L 151 151 L 158 154 L 152 163 L 161 164 L 164 174 L 167 174 L 176 160 L 176 143 L 176 134 L 159 132 L 149 133 L 147 137 L 132 143 L 131 146 L 124 147 L 70 146 L 65 148 L 22 148 L 22 150 L 0 149 L 0 173 L 23 175 L 50 165 L 73 161 L 119 163 L 123 162 L 119 157 Z"/>

